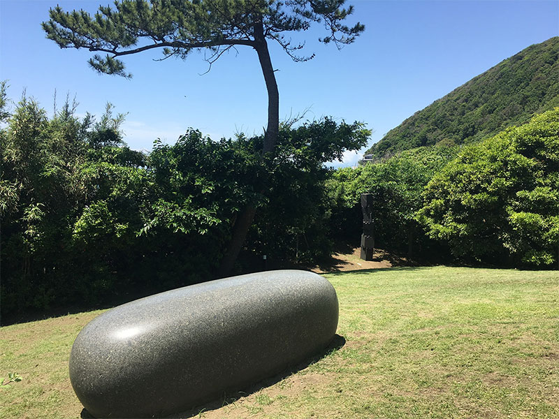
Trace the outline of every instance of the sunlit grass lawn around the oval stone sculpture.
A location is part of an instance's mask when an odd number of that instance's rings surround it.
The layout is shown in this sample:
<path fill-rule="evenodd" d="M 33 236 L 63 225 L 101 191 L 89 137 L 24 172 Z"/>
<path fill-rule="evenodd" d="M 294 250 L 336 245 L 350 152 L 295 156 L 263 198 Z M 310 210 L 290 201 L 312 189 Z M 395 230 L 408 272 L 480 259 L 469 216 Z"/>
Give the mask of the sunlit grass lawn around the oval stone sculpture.
<path fill-rule="evenodd" d="M 344 345 L 191 416 L 559 418 L 559 272 L 392 267 L 325 276 L 340 300 Z M 0 329 L 0 377 L 22 376 L 0 388 L 0 418 L 80 417 L 68 356 L 100 313 Z"/>

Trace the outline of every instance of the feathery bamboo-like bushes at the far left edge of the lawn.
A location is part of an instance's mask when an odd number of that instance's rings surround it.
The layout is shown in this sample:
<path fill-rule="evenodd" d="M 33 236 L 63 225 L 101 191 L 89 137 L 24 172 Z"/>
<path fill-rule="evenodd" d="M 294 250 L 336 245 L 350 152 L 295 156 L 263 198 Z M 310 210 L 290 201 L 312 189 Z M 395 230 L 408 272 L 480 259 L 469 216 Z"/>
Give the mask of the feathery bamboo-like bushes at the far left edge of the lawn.
<path fill-rule="evenodd" d="M 74 104 L 75 105 L 75 104 Z M 2 311 L 95 298 L 126 260 L 133 223 L 129 190 L 145 156 L 122 145 L 122 115 L 74 116 L 66 103 L 48 119 L 22 98 L 0 131 Z"/>

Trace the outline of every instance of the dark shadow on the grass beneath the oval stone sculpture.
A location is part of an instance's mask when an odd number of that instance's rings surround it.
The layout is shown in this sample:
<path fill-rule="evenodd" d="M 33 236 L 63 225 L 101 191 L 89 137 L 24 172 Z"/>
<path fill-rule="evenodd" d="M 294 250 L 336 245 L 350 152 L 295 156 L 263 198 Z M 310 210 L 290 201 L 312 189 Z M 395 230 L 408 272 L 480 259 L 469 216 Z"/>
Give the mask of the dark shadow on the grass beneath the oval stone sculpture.
<path fill-rule="evenodd" d="M 196 418 L 196 417 L 200 417 L 201 413 L 203 412 L 222 409 L 222 407 L 227 406 L 228 404 L 235 403 L 238 399 L 241 399 L 242 397 L 247 397 L 256 392 L 259 392 L 263 388 L 268 388 L 271 385 L 277 384 L 279 383 L 279 381 L 284 380 L 284 378 L 287 378 L 295 374 L 296 372 L 300 372 L 303 369 L 309 367 L 310 365 L 319 362 L 322 358 L 325 358 L 326 356 L 331 355 L 336 351 L 339 351 L 345 345 L 345 343 L 346 340 L 343 336 L 334 335 L 331 343 L 328 346 L 326 346 L 326 348 L 324 348 L 319 353 L 315 353 L 314 355 L 305 358 L 305 360 L 298 363 L 297 365 L 293 365 L 287 369 L 284 369 L 282 372 L 279 372 L 274 376 L 271 376 L 269 378 L 264 378 L 261 381 L 245 386 L 241 390 L 223 392 L 222 395 L 220 395 L 219 397 L 214 397 L 210 402 L 201 404 L 199 406 L 195 406 L 194 408 L 189 409 L 187 411 L 174 413 L 173 415 L 166 416 L 166 418 L 175 418 L 175 419 Z M 91 416 L 86 409 L 82 409 L 80 418 L 91 419 L 93 418 L 93 416 Z"/>

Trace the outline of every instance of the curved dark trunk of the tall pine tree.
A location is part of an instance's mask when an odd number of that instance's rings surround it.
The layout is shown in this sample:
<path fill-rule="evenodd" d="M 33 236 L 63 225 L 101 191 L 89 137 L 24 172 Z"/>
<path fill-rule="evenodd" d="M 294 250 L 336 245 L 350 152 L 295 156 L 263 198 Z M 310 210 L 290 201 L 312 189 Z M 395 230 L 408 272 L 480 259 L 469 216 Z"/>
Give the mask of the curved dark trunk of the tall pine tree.
<path fill-rule="evenodd" d="M 261 22 L 254 25 L 254 40 L 253 46 L 258 54 L 262 74 L 266 82 L 266 90 L 268 91 L 268 127 L 264 134 L 264 144 L 262 147 L 262 154 L 266 154 L 273 152 L 279 136 L 279 92 L 277 90 L 272 60 L 270 59 L 270 52 L 268 51 L 268 43 L 266 42 Z M 231 242 L 219 265 L 219 277 L 226 277 L 233 269 L 235 260 L 239 256 L 242 244 L 245 242 L 249 228 L 252 225 L 252 220 L 254 220 L 254 214 L 256 214 L 254 205 L 247 205 L 238 214 L 233 225 Z"/>

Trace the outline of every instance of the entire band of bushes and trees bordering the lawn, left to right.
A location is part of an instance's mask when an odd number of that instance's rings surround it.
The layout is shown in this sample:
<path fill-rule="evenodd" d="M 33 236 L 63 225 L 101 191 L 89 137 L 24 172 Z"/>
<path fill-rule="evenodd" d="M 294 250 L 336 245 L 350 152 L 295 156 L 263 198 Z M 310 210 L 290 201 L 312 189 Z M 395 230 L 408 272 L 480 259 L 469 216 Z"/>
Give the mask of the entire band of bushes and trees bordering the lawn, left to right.
<path fill-rule="evenodd" d="M 265 136 L 210 140 L 189 129 L 149 155 L 126 147 L 111 105 L 96 121 L 66 101 L 48 117 L 0 84 L 1 311 L 99 304 L 216 277 L 243 207 L 245 251 L 315 263 L 358 245 L 361 193 L 376 246 L 412 258 L 556 267 L 559 108 L 474 145 L 451 141 L 382 163 L 324 162 L 365 145 L 361 123 L 326 118 Z M 254 265 L 242 265 L 247 272 Z M 257 265 L 258 269 L 260 266 Z"/>

